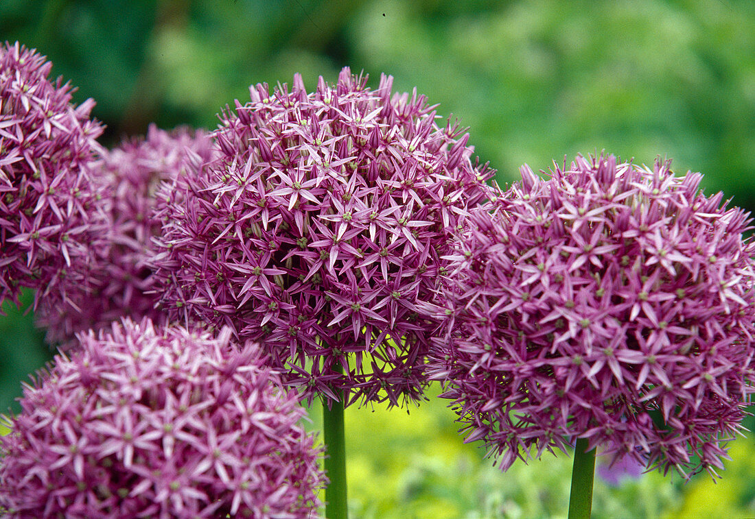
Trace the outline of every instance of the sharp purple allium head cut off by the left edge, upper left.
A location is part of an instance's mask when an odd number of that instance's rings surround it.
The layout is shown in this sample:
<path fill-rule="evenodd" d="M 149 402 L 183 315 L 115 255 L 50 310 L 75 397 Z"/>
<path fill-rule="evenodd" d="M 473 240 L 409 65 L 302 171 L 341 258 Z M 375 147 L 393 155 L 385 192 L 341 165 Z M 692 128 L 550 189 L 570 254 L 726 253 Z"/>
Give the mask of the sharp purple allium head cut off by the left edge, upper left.
<path fill-rule="evenodd" d="M 52 64 L 35 51 L 0 46 L 0 299 L 45 287 L 75 258 L 86 261 L 88 213 L 97 192 L 85 164 L 102 132 L 73 91 L 48 80 Z"/>

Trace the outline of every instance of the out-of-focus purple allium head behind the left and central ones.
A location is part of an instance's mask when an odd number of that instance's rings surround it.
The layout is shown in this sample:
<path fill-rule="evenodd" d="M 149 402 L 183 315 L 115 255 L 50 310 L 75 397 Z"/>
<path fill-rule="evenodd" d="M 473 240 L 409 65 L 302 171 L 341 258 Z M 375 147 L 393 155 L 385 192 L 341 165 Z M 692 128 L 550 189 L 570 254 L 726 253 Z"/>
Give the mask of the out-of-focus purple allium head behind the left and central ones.
<path fill-rule="evenodd" d="M 156 189 L 195 174 L 209 160 L 210 143 L 204 131 L 168 133 L 152 125 L 146 139 L 126 141 L 90 165 L 103 197 L 90 219 L 106 240 L 89 247 L 89 263 L 72 265 L 69 272 L 80 269 L 77 275 L 60 280 L 64 297 L 51 293 L 39 302 L 38 323 L 48 328 L 48 341 L 71 342 L 74 333 L 100 330 L 121 317 L 165 321 L 149 293 L 153 278 L 146 266 L 152 238 L 160 232 L 153 217 Z"/>

